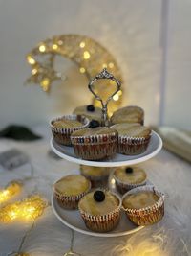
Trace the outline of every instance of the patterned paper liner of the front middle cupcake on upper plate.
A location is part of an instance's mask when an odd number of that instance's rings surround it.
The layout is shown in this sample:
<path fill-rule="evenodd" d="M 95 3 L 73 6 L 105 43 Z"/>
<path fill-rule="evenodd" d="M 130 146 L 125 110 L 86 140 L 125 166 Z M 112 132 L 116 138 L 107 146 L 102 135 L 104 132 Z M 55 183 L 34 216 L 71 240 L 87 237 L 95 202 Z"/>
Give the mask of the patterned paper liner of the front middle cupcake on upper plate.
<path fill-rule="evenodd" d="M 85 160 L 112 157 L 117 152 L 117 132 L 91 136 L 71 136 L 75 154 Z"/>

